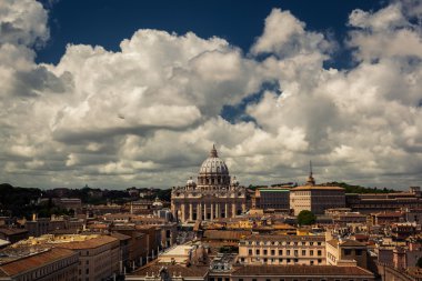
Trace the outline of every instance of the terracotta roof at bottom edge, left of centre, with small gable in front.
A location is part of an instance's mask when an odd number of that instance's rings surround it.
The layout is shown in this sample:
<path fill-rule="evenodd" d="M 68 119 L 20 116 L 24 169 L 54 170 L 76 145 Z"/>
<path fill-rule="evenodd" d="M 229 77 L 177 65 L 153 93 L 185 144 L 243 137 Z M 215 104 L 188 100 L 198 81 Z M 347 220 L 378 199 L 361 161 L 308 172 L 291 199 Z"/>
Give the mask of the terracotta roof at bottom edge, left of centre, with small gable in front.
<path fill-rule="evenodd" d="M 197 278 L 204 278 L 209 267 L 184 267 L 181 264 L 162 264 L 162 263 L 150 263 L 147 264 L 143 268 L 140 268 L 139 270 L 133 271 L 132 273 L 128 275 L 137 275 L 137 277 L 151 277 L 152 274 L 159 275 L 159 272 L 162 268 L 165 268 L 170 274 L 170 277 L 173 275 L 182 275 L 182 277 L 197 277 Z"/>

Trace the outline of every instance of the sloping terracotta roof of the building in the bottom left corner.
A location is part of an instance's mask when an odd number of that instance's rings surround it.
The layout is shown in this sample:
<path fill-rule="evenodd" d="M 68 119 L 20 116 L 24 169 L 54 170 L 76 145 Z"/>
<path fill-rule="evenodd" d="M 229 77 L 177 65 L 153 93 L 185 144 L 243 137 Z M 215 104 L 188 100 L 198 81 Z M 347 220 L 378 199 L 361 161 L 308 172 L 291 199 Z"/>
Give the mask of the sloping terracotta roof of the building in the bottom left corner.
<path fill-rule="evenodd" d="M 32 254 L 26 258 L 21 258 L 14 261 L 10 261 L 6 264 L 0 265 L 0 272 L 7 277 L 13 277 L 21 272 L 37 269 L 46 263 L 62 260 L 72 255 L 78 254 L 77 252 L 68 249 L 52 248 L 44 252 Z M 0 275 L 1 275 L 0 273 Z"/>

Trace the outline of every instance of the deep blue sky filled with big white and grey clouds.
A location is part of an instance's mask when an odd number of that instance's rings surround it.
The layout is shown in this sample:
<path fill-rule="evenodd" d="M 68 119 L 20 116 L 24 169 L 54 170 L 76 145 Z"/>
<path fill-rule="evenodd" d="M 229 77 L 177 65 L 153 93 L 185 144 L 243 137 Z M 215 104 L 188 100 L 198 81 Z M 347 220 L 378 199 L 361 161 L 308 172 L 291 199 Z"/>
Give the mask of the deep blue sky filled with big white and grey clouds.
<path fill-rule="evenodd" d="M 230 4 L 228 4 L 230 3 Z M 422 185 L 422 2 L 0 2 L 0 182 Z"/>

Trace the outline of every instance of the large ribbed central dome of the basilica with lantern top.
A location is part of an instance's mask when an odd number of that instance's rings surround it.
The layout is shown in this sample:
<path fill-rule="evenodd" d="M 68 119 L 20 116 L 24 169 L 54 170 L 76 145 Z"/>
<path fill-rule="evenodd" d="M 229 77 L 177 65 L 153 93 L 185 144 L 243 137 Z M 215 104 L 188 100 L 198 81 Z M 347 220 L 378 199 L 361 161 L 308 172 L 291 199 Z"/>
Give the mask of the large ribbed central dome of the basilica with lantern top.
<path fill-rule="evenodd" d="M 229 185 L 230 174 L 224 161 L 219 158 L 215 145 L 203 161 L 198 175 L 199 185 Z"/>

